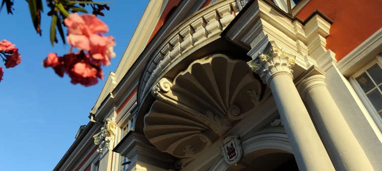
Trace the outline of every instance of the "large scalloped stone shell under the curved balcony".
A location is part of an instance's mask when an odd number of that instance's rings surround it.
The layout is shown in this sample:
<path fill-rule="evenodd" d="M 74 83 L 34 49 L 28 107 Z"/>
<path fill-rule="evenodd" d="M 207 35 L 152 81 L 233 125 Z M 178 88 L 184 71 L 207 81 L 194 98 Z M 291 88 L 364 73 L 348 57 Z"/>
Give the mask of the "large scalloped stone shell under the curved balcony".
<path fill-rule="evenodd" d="M 192 158 L 260 105 L 262 86 L 244 61 L 216 54 L 162 78 L 143 131 L 159 150 Z"/>

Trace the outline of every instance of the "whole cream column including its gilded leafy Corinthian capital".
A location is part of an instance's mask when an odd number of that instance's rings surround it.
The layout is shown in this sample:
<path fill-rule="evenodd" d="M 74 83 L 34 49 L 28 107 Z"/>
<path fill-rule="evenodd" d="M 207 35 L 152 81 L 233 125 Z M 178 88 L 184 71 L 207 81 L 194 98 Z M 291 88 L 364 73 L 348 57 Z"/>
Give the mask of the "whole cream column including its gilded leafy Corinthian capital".
<path fill-rule="evenodd" d="M 294 57 L 276 47 L 250 64 L 272 90 L 299 170 L 334 171 L 333 164 L 317 134 L 309 113 L 293 83 Z"/>

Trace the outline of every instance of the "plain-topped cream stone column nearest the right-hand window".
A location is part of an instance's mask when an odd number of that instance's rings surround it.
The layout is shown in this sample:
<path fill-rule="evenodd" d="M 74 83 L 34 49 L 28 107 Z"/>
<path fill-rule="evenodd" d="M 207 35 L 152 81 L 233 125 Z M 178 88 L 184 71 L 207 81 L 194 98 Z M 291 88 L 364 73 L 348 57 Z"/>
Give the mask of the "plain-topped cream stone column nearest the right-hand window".
<path fill-rule="evenodd" d="M 315 74 L 317 72 L 319 74 Z M 297 88 L 310 108 L 335 169 L 373 171 L 365 152 L 326 88 L 322 73 L 319 68 L 311 67 L 304 73 Z"/>

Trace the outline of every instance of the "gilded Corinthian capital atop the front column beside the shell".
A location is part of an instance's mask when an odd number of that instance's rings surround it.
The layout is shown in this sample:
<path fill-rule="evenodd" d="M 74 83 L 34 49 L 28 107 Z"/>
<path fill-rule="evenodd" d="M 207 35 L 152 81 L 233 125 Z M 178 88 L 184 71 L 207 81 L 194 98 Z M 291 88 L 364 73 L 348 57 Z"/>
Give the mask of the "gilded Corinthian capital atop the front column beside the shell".
<path fill-rule="evenodd" d="M 294 66 L 295 56 L 288 55 L 287 52 L 272 46 L 266 54 L 259 52 L 258 59 L 254 59 L 249 65 L 253 72 L 260 75 L 264 84 L 269 85 L 269 81 L 281 73 L 286 73 L 293 79 L 291 68 Z"/>

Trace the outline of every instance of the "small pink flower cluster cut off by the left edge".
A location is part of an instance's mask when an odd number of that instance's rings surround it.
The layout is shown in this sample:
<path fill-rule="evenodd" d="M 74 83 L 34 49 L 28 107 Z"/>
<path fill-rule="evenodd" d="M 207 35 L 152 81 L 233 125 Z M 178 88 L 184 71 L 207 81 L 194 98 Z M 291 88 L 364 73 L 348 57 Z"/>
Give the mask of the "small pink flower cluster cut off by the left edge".
<path fill-rule="evenodd" d="M 10 43 L 7 40 L 0 41 L 0 57 L 5 62 L 6 68 L 12 68 L 21 63 L 21 55 L 19 49 L 15 48 L 15 44 Z M 0 66 L 0 82 L 4 71 Z"/>

